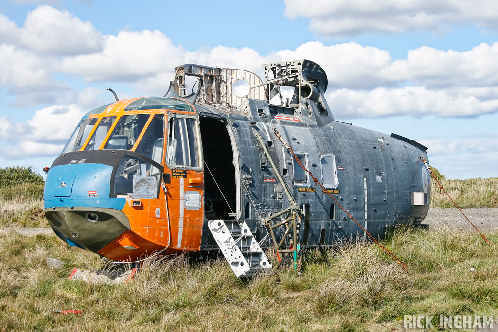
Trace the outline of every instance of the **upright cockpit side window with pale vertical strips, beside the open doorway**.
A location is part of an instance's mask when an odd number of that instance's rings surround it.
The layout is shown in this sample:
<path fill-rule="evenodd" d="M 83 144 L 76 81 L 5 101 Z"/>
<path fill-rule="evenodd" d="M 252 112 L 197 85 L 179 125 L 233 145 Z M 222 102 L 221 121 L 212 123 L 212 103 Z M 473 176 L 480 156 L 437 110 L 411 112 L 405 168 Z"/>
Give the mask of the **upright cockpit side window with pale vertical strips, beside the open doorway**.
<path fill-rule="evenodd" d="M 200 167 L 195 117 L 173 115 L 168 124 L 166 162 L 172 167 Z"/>

